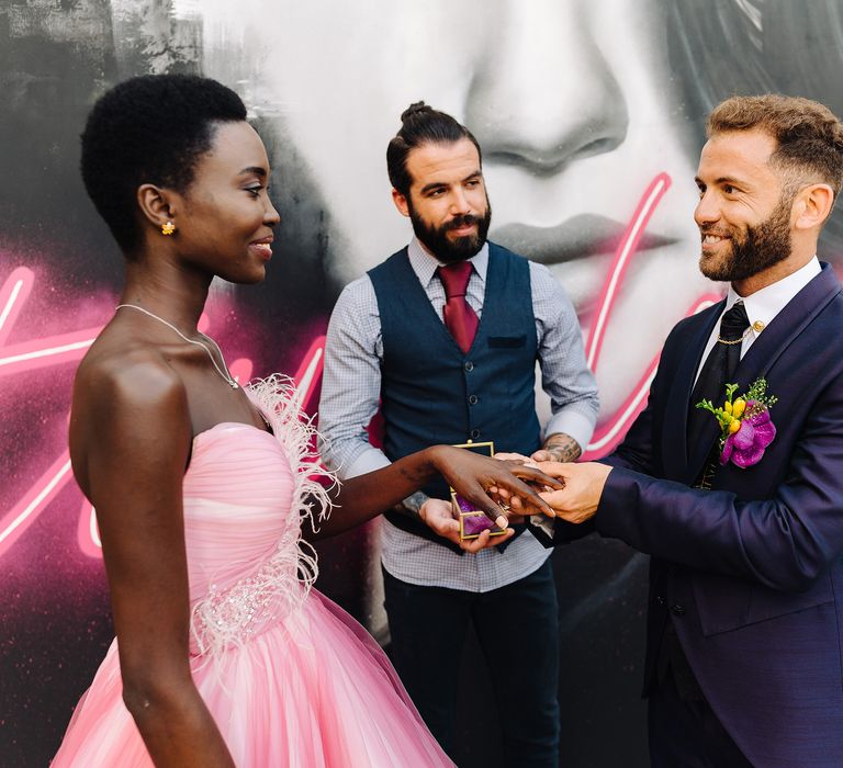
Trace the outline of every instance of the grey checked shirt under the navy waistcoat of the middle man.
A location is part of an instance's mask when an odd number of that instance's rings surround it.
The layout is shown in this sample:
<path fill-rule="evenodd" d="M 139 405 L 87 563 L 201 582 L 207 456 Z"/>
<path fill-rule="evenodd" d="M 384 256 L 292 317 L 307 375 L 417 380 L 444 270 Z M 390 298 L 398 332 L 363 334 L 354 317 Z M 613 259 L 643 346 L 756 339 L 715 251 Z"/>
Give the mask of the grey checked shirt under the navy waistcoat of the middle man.
<path fill-rule="evenodd" d="M 436 276 L 439 263 L 414 239 L 409 263 L 441 318 L 445 289 Z M 488 246 L 471 259 L 467 301 L 480 318 L 483 312 Z M 541 266 L 530 262 L 532 312 L 543 389 L 552 416 L 546 434 L 564 432 L 585 447 L 597 421 L 597 387 L 585 363 L 576 313 L 562 287 Z M 386 466 L 390 460 L 369 443 L 367 426 L 378 410 L 383 341 L 374 287 L 368 275 L 346 286 L 334 307 L 325 346 L 325 372 L 319 403 L 319 450 L 340 478 Z M 407 533 L 382 520 L 383 566 L 403 581 L 485 592 L 536 571 L 550 555 L 528 533 L 502 553 L 495 549 L 459 555 L 446 546 Z"/>

